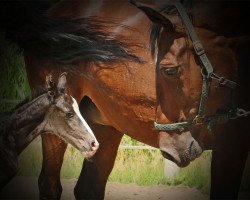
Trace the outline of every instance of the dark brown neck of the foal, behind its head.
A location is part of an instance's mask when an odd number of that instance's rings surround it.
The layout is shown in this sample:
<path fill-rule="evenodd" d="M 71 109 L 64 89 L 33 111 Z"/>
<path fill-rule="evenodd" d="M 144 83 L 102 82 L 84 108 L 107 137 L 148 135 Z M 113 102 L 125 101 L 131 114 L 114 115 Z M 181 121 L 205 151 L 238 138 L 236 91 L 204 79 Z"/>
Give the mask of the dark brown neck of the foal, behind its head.
<path fill-rule="evenodd" d="M 43 94 L 6 118 L 5 142 L 14 147 L 17 155 L 41 133 L 41 123 L 50 104 L 47 94 Z"/>

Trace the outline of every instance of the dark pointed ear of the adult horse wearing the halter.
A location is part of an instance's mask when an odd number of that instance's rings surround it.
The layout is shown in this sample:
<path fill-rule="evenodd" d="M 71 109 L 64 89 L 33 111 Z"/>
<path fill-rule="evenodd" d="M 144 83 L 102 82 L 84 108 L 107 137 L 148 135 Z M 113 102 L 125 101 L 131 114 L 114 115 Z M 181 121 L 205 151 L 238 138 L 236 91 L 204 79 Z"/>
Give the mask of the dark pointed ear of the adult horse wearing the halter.
<path fill-rule="evenodd" d="M 142 10 L 153 23 L 163 26 L 169 32 L 174 30 L 174 25 L 172 24 L 172 22 L 160 12 L 158 12 L 157 9 L 154 8 L 154 6 L 135 2 L 133 0 L 130 0 L 129 2 L 136 6 L 138 9 Z"/>

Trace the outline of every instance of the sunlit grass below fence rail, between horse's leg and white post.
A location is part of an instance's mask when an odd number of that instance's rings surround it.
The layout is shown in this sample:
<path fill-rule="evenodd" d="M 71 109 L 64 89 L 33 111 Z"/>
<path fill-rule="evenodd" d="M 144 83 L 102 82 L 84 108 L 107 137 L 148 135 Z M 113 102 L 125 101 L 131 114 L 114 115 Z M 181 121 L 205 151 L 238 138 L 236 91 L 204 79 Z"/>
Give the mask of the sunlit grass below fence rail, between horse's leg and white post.
<path fill-rule="evenodd" d="M 138 185 L 164 184 L 163 158 L 156 150 L 120 149 L 109 181 Z"/>

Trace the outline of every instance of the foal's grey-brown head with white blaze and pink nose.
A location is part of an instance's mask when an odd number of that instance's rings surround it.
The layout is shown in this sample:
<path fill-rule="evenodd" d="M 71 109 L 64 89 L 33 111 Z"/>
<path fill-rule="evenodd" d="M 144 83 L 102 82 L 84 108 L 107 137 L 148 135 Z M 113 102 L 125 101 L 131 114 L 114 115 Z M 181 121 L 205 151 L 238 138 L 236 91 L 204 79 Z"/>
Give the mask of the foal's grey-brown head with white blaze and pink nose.
<path fill-rule="evenodd" d="M 87 122 L 80 114 L 76 100 L 65 92 L 66 73 L 60 75 L 58 84 L 46 77 L 48 97 L 51 105 L 46 112 L 43 132 L 54 133 L 85 153 L 94 155 L 99 144 Z"/>

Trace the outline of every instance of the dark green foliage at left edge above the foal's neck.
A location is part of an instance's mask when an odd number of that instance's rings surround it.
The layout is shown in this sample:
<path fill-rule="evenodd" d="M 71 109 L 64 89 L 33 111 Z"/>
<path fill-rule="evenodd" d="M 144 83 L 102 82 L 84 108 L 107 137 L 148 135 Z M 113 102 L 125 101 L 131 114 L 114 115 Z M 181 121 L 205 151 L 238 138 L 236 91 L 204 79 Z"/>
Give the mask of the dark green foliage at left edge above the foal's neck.
<path fill-rule="evenodd" d="M 0 111 L 7 111 L 17 102 L 30 95 L 24 59 L 20 50 L 4 39 L 0 33 Z"/>

